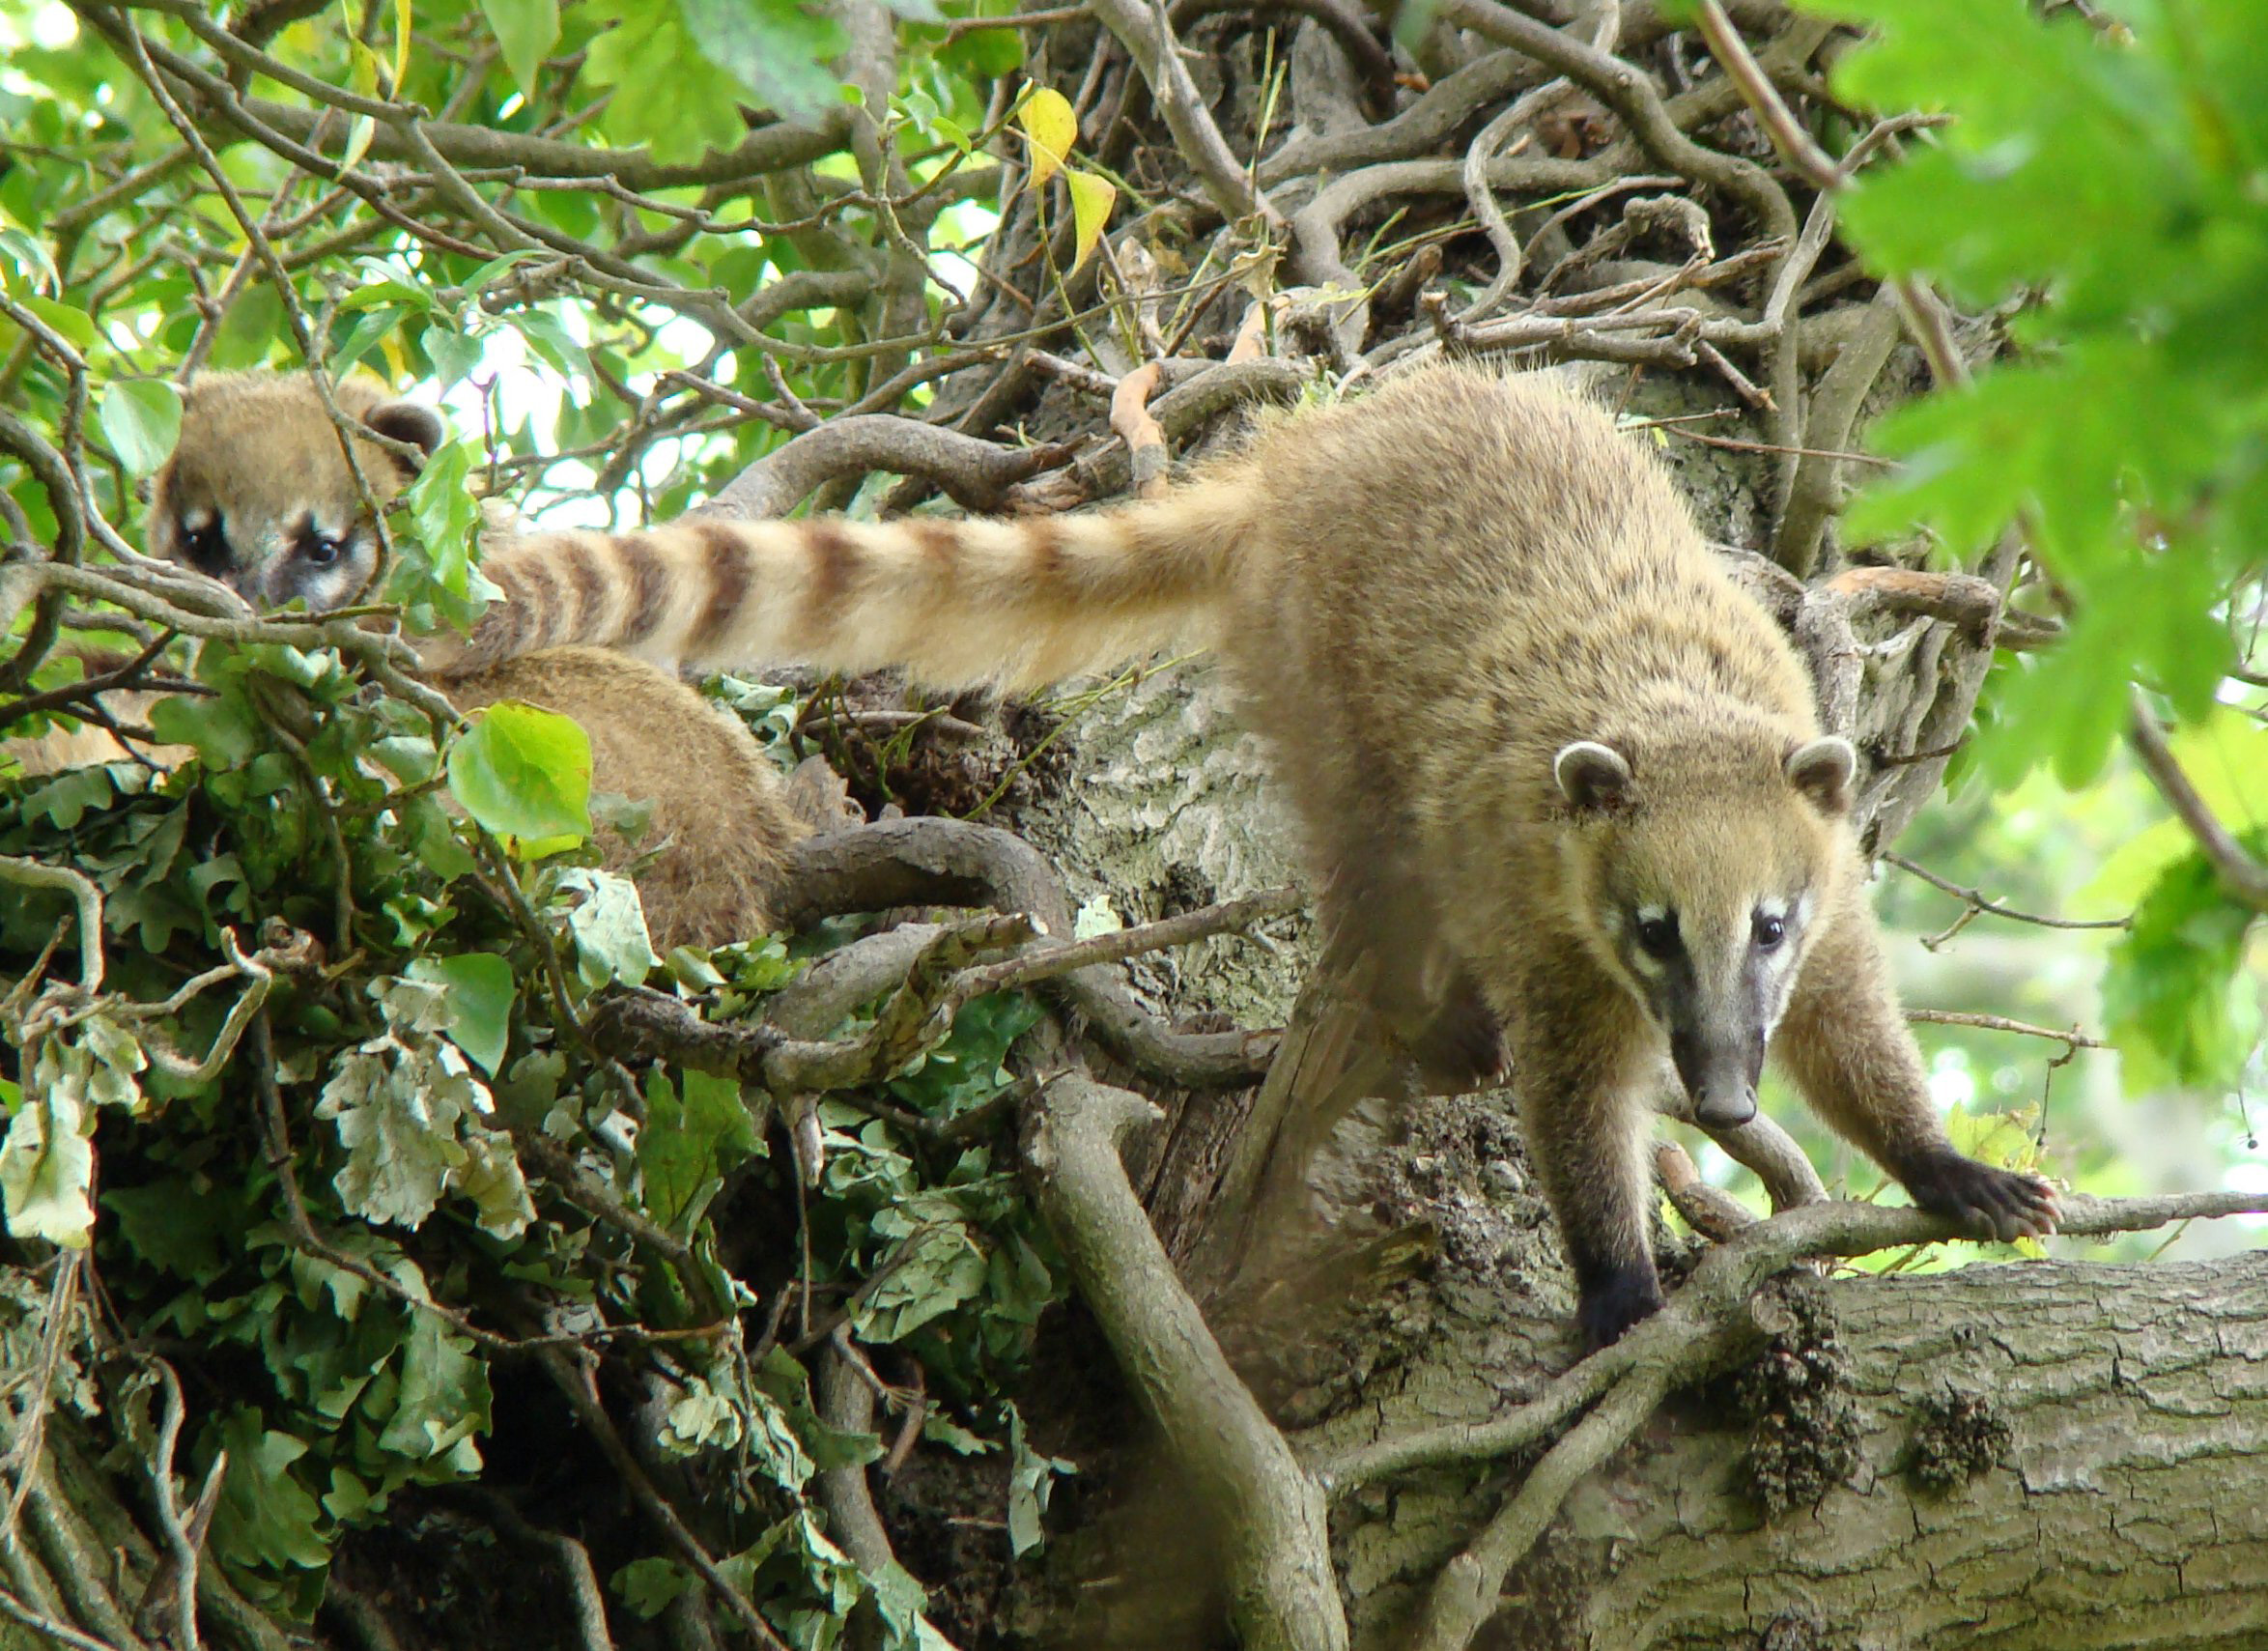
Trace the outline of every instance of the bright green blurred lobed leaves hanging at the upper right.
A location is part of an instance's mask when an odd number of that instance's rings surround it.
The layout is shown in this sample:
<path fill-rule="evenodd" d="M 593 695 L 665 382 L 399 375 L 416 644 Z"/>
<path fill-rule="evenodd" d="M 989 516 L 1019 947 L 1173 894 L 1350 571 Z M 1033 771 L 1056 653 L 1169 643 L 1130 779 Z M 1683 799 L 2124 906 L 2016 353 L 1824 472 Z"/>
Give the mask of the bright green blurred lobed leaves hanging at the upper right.
<path fill-rule="evenodd" d="M 2096 778 L 2146 685 L 2200 728 L 2177 751 L 2220 819 L 2268 832 L 2268 723 L 2248 671 L 2268 612 L 2268 95 L 2245 0 L 2080 7 L 1823 0 L 1876 27 L 1837 68 L 1853 102 L 1948 122 L 1846 195 L 1882 270 L 2000 308 L 2016 352 L 1876 426 L 1907 463 L 1851 508 L 1857 535 L 1928 526 L 1955 551 L 2021 533 L 2066 615 L 1996 674 L 1982 769 Z M 2155 882 L 2150 875 L 2155 873 Z M 2127 1084 L 2227 1093 L 2261 1048 L 2245 964 L 2259 914 L 2166 821 L 2098 887 L 2141 894 L 2105 1007 Z M 2148 891 L 2143 894 L 2143 889 Z M 2114 898 L 2116 898 L 2114 894 Z"/>

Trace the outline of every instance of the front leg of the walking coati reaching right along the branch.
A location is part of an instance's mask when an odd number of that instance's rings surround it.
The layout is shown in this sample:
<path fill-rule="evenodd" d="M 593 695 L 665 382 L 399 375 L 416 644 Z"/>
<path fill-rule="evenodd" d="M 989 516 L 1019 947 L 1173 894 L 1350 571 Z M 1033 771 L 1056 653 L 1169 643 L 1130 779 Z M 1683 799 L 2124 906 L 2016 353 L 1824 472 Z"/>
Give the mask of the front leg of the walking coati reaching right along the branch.
<path fill-rule="evenodd" d="M 2053 1186 L 1966 1159 L 1946 1136 L 1864 909 L 1846 907 L 1812 943 L 1771 1050 L 1819 1116 L 1921 1209 L 2003 1241 L 2055 1231 Z"/>

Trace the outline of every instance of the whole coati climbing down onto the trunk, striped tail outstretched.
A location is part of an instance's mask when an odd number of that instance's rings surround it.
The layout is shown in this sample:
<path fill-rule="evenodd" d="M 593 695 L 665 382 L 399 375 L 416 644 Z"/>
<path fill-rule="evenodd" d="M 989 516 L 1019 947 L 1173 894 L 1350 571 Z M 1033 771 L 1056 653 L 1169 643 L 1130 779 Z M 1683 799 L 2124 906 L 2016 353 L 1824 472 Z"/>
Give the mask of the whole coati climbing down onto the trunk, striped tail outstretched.
<path fill-rule="evenodd" d="M 1821 735 L 1667 472 L 1542 376 L 1436 365 L 1154 499 L 1018 522 L 678 522 L 497 547 L 445 671 L 603 644 L 1005 687 L 1216 646 L 1275 753 L 1331 943 L 1436 1068 L 1510 1045 L 1588 1347 L 1653 1313 L 1644 1143 L 1678 1082 L 1755 1111 L 1767 1048 L 1923 1209 L 2055 1227 L 1946 1138 Z"/>

